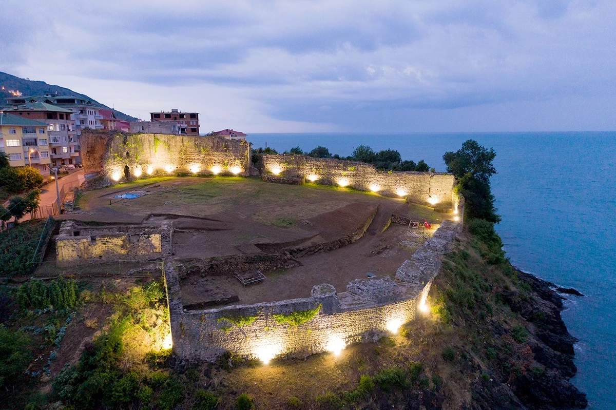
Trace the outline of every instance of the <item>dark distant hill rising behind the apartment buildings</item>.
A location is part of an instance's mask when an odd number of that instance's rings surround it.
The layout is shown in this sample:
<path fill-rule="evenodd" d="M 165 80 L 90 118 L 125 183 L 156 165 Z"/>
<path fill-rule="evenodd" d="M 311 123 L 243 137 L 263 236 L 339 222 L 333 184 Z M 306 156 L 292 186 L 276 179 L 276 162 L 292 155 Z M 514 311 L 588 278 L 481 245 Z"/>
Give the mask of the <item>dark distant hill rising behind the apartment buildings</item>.
<path fill-rule="evenodd" d="M 1 88 L 4 87 L 4 90 Z M 30 79 L 19 78 L 16 76 L 12 76 L 7 73 L 2 73 L 0 71 L 0 106 L 6 104 L 6 98 L 12 97 L 9 90 L 17 90 L 22 93 L 22 95 L 38 95 L 38 94 L 65 94 L 65 95 L 76 95 L 77 97 L 83 97 L 90 100 L 95 105 L 98 105 L 102 108 L 108 108 L 111 110 L 111 107 L 107 107 L 107 105 L 101 104 L 94 100 L 94 98 L 89 97 L 85 94 L 80 94 L 79 92 L 75 92 L 71 89 L 60 87 L 60 86 L 52 86 L 51 84 L 47 84 L 44 81 L 32 81 Z M 130 115 L 126 115 L 121 111 L 114 110 L 116 113 L 116 118 L 124 119 L 126 121 L 137 121 L 137 118 L 132 117 Z"/>

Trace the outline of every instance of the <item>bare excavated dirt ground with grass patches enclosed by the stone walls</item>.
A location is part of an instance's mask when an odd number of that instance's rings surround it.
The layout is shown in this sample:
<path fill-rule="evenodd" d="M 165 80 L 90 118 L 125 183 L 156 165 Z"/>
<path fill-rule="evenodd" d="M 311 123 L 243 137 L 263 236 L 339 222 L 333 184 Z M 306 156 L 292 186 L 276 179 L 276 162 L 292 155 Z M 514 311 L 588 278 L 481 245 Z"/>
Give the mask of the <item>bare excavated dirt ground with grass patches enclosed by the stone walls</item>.
<path fill-rule="evenodd" d="M 139 193 L 134 199 L 115 198 Z M 158 178 L 87 192 L 80 211 L 66 219 L 107 223 L 174 225 L 177 260 L 230 255 L 258 255 L 284 251 L 289 246 L 327 244 L 352 235 L 374 216 L 365 235 L 330 252 L 294 258 L 292 268 L 264 271 L 260 283 L 242 285 L 233 271 L 224 275 L 192 274 L 182 278 L 185 305 L 209 307 L 229 303 L 256 303 L 308 297 L 314 285 L 333 284 L 346 291 L 349 281 L 393 276 L 397 268 L 424 241 L 419 229 L 391 225 L 394 213 L 436 224 L 445 214 L 347 188 L 323 185 L 279 185 L 235 177 Z M 266 249 L 267 248 L 267 249 Z"/>

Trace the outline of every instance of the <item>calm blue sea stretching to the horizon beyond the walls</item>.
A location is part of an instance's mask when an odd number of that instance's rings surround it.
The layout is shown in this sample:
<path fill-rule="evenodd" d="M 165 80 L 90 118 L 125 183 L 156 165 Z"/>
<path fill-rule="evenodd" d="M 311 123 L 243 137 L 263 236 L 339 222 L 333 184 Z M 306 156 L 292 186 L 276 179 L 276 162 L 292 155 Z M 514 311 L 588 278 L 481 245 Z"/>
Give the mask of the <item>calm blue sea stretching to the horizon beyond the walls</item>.
<path fill-rule="evenodd" d="M 616 132 L 452 134 L 251 134 L 253 147 L 282 152 L 317 145 L 351 155 L 392 148 L 445 171 L 442 155 L 474 139 L 496 151 L 496 230 L 511 262 L 585 297 L 562 313 L 575 346 L 573 383 L 589 408 L 616 409 Z"/>

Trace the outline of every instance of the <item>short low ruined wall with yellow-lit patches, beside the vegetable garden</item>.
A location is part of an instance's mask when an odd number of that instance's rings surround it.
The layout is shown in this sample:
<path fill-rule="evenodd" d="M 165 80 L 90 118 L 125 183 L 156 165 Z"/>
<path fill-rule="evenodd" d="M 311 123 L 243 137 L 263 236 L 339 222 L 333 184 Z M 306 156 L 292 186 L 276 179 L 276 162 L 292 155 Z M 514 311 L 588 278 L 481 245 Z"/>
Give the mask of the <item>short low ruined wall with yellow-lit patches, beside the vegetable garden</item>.
<path fill-rule="evenodd" d="M 59 267 L 81 261 L 145 260 L 171 254 L 172 227 L 78 225 L 64 221 L 55 238 Z"/>

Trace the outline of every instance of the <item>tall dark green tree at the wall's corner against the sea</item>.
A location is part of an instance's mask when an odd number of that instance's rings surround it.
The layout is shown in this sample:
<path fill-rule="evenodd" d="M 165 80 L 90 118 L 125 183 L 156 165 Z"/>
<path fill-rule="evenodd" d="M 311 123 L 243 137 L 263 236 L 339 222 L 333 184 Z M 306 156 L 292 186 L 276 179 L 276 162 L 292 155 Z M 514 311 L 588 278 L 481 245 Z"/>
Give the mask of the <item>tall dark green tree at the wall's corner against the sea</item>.
<path fill-rule="evenodd" d="M 468 215 L 498 223 L 501 218 L 496 214 L 490 189 L 490 177 L 496 174 L 492 164 L 495 156 L 492 148 L 488 150 L 474 140 L 467 140 L 460 150 L 446 152 L 443 160 L 447 172 L 458 180 L 457 189 L 464 196 Z"/>

